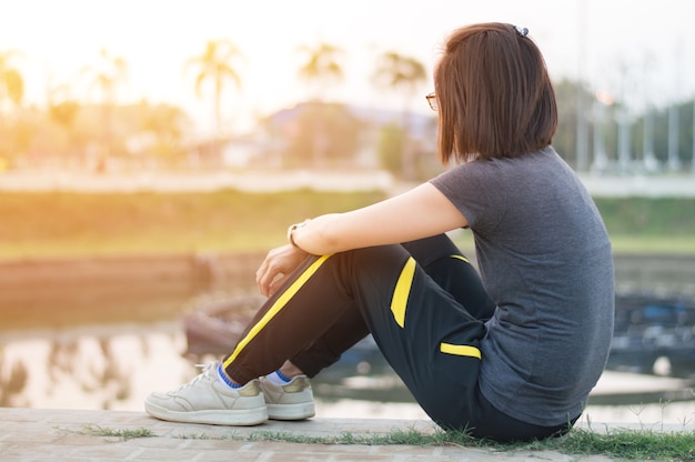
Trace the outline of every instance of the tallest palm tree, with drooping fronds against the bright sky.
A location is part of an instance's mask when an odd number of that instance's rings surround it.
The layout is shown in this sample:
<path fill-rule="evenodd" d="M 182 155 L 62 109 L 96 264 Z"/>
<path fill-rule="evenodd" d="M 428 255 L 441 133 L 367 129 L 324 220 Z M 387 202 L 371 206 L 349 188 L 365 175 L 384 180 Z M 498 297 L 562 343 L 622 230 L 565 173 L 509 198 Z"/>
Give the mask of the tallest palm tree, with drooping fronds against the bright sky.
<path fill-rule="evenodd" d="M 229 40 L 209 40 L 202 54 L 189 58 L 185 61 L 184 70 L 191 67 L 197 68 L 195 94 L 202 98 L 203 84 L 212 80 L 214 100 L 214 123 L 215 138 L 220 135 L 221 129 L 221 104 L 224 86 L 228 81 L 234 83 L 236 89 L 241 88 L 241 78 L 233 66 L 233 61 L 241 58 L 239 49 Z"/>

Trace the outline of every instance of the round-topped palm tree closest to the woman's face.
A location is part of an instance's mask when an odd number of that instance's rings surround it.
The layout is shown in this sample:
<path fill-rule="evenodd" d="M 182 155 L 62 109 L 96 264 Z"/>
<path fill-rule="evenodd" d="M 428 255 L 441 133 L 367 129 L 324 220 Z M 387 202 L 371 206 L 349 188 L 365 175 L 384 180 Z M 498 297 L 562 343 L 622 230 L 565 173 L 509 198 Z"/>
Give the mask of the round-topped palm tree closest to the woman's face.
<path fill-rule="evenodd" d="M 403 132 L 410 132 L 409 102 L 413 101 L 414 93 L 420 84 L 427 79 L 425 67 L 415 58 L 404 57 L 394 51 L 384 52 L 377 62 L 373 81 L 379 88 L 403 92 L 405 106 L 403 108 Z M 411 180 L 414 177 L 413 147 L 410 142 L 402 143 L 402 174 L 404 179 Z"/>

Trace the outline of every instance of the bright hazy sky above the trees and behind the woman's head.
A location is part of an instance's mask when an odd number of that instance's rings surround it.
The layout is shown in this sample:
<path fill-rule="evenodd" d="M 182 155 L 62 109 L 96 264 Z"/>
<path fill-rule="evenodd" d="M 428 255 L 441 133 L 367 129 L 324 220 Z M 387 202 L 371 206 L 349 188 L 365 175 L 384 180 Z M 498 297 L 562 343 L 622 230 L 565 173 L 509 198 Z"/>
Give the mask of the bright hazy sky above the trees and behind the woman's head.
<path fill-rule="evenodd" d="M 208 40 L 228 39 L 243 54 L 242 87 L 229 87 L 222 116 L 241 129 L 309 97 L 298 78 L 301 46 L 343 50 L 345 79 L 331 100 L 394 106 L 370 81 L 379 54 L 395 51 L 431 70 L 451 31 L 501 21 L 528 28 L 553 79 L 584 80 L 638 111 L 647 100 L 695 94 L 693 18 L 691 0 L 0 0 L 0 52 L 21 52 L 14 64 L 27 100 L 43 104 L 47 88 L 63 84 L 90 98 L 78 77 L 103 48 L 128 64 L 121 102 L 178 104 L 204 130 L 212 106 L 195 97 L 183 63 Z M 431 77 L 423 96 L 430 91 Z M 410 106 L 429 110 L 424 98 Z"/>

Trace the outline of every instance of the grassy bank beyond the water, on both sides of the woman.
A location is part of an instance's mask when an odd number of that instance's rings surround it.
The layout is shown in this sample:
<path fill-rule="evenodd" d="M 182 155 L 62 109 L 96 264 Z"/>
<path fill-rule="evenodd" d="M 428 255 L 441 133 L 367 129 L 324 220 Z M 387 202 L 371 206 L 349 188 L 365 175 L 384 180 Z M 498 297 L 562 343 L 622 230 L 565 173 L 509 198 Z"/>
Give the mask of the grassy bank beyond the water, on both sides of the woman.
<path fill-rule="evenodd" d="M 265 251 L 289 223 L 383 192 L 0 194 L 0 258 Z M 616 252 L 695 253 L 695 199 L 596 200 Z M 464 233 L 470 234 L 470 233 Z M 464 235 L 463 245 L 470 245 Z"/>

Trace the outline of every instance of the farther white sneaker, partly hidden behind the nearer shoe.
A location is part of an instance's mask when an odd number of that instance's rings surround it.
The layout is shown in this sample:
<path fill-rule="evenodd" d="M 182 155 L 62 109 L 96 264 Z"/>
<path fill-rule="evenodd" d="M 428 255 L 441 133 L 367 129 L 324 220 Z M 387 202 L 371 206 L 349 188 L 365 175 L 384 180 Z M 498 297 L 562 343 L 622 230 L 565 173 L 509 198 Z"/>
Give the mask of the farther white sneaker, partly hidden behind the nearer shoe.
<path fill-rule="evenodd" d="M 286 385 L 279 385 L 264 376 L 260 381 L 270 419 L 303 420 L 315 415 L 314 394 L 306 375 L 298 375 Z"/>

